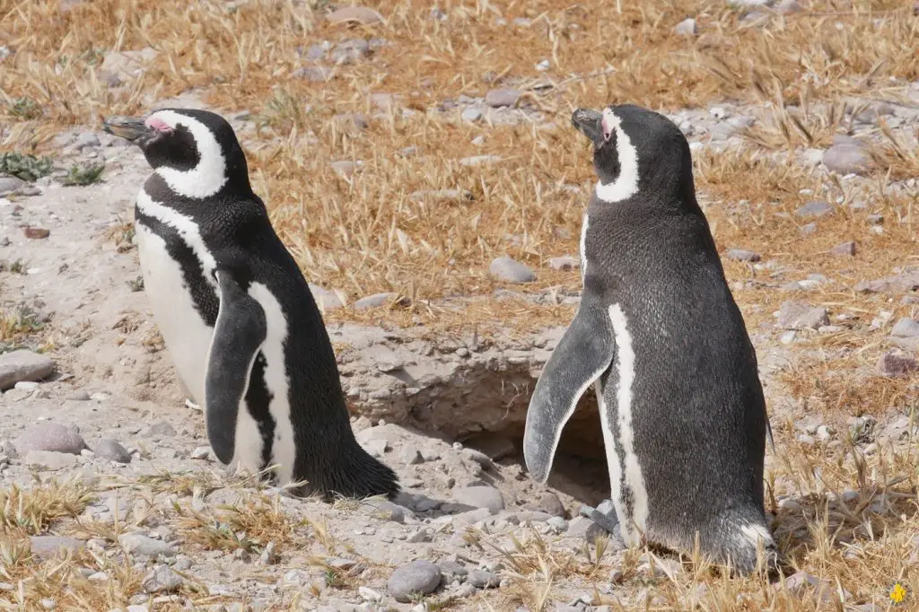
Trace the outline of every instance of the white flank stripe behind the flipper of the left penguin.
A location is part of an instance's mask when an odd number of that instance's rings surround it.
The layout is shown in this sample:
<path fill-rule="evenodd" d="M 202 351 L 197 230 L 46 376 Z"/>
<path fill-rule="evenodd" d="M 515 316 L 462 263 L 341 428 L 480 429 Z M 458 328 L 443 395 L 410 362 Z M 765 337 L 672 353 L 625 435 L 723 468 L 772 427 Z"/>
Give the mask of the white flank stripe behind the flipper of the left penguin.
<path fill-rule="evenodd" d="M 249 286 L 249 295 L 265 311 L 268 328 L 265 342 L 262 345 L 262 355 L 265 356 L 267 362 L 265 383 L 274 395 L 268 405 L 268 411 L 275 420 L 271 463 L 280 466 L 278 482 L 288 482 L 293 475 L 297 448 L 293 436 L 293 425 L 290 423 L 290 380 L 287 360 L 284 356 L 284 343 L 288 335 L 287 317 L 278 299 L 262 283 L 252 283 Z"/>

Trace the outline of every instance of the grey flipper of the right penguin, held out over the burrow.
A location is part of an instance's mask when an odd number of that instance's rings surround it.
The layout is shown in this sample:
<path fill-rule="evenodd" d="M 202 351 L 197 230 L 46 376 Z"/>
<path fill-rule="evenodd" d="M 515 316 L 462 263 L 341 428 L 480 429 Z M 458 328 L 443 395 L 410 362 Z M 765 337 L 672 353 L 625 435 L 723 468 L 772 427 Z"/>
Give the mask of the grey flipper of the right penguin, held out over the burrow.
<path fill-rule="evenodd" d="M 562 429 L 584 391 L 609 368 L 615 355 L 616 341 L 607 309 L 585 292 L 529 401 L 523 454 L 536 482 L 549 478 Z"/>

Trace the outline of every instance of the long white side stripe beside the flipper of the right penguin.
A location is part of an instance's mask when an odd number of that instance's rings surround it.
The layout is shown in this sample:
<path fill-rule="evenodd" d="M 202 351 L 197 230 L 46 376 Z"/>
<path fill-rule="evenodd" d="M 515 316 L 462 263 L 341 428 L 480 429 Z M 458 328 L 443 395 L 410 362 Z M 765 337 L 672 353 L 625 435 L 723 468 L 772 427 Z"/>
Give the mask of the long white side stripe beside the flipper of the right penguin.
<path fill-rule="evenodd" d="M 634 497 L 632 506 L 632 521 L 635 527 L 644 531 L 648 521 L 648 492 L 644 486 L 644 478 L 641 475 L 641 466 L 638 462 L 638 456 L 635 454 L 634 435 L 632 429 L 632 383 L 635 380 L 635 351 L 631 344 L 631 334 L 629 333 L 629 322 L 625 312 L 619 304 L 613 304 L 609 307 L 609 321 L 613 325 L 613 336 L 616 339 L 618 369 L 618 387 L 616 390 L 616 399 L 618 402 L 618 425 L 619 440 L 625 456 L 626 482 L 632 491 Z"/>

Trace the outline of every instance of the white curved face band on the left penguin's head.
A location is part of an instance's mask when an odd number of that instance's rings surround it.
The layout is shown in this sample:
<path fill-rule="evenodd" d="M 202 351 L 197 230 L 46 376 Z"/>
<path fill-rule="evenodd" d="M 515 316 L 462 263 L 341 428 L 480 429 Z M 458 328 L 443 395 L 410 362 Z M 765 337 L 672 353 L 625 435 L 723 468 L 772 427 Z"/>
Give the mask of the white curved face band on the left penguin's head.
<path fill-rule="evenodd" d="M 151 122 L 162 122 L 173 129 L 182 124 L 195 137 L 199 154 L 198 165 L 187 171 L 165 166 L 154 171 L 163 177 L 170 189 L 180 196 L 195 199 L 208 198 L 221 190 L 227 182 L 226 158 L 223 156 L 221 145 L 207 126 L 173 110 L 157 111 L 147 122 L 148 125 L 152 125 Z"/>

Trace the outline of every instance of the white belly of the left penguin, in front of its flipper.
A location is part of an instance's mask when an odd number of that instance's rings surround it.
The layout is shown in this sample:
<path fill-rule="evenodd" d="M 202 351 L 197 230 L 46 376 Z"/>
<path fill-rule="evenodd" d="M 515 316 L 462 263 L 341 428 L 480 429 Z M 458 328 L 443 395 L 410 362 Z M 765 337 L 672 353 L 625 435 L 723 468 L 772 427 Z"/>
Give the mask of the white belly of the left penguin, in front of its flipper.
<path fill-rule="evenodd" d="M 182 268 L 169 255 L 165 241 L 140 222 L 134 224 L 134 232 L 144 291 L 156 326 L 178 376 L 192 394 L 192 400 L 200 403 L 204 398 L 204 374 L 214 330 L 195 310 Z"/>

